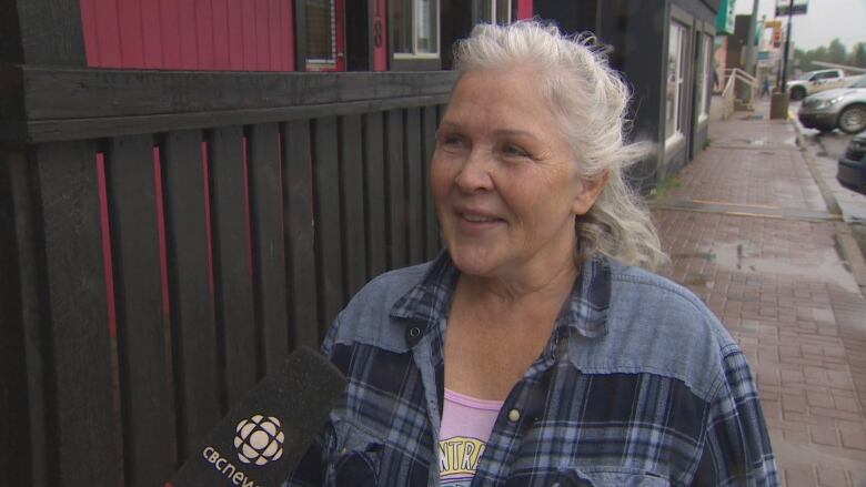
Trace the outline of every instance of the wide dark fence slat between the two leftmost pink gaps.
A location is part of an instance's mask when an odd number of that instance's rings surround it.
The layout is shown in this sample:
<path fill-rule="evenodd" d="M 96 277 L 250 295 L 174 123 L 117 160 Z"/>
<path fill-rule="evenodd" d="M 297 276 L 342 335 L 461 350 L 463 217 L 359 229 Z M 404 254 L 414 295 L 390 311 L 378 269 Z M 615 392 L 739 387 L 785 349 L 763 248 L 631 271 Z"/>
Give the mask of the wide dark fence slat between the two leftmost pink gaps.
<path fill-rule="evenodd" d="M 155 485 L 171 478 L 174 458 L 153 139 L 113 139 L 105 175 L 127 485 Z"/>

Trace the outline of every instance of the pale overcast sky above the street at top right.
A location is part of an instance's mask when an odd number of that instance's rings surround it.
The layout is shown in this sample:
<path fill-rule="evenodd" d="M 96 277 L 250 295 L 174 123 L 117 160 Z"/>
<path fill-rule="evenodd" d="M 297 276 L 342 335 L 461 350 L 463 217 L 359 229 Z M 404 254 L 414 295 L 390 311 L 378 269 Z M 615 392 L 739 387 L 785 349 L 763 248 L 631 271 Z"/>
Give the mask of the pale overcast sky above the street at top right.
<path fill-rule="evenodd" d="M 753 0 L 736 0 L 737 13 L 752 13 Z M 758 19 L 772 19 L 778 0 L 758 1 Z M 787 3 L 787 0 L 785 0 Z M 808 13 L 794 16 L 792 41 L 800 49 L 827 45 L 839 38 L 850 52 L 857 42 L 866 42 L 866 0 L 808 0 Z"/>

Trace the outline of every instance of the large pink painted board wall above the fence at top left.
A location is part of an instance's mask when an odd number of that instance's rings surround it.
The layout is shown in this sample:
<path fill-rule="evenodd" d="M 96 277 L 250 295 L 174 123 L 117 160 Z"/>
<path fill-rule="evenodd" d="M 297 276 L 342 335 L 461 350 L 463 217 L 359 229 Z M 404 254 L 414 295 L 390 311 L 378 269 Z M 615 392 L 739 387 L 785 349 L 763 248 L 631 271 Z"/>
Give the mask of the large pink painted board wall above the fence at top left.
<path fill-rule="evenodd" d="M 80 0 L 91 68 L 294 71 L 293 0 Z"/>

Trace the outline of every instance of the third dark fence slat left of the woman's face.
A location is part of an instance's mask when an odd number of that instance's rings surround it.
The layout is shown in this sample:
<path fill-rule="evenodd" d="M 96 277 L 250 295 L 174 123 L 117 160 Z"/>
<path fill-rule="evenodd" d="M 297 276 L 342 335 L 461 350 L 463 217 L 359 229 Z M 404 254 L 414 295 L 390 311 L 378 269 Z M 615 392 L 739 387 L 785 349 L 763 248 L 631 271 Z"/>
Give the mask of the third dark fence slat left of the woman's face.
<path fill-rule="evenodd" d="M 403 154 L 403 111 L 390 110 L 385 114 L 387 153 L 387 266 L 406 266 L 406 193 L 404 185 L 405 158 Z"/>

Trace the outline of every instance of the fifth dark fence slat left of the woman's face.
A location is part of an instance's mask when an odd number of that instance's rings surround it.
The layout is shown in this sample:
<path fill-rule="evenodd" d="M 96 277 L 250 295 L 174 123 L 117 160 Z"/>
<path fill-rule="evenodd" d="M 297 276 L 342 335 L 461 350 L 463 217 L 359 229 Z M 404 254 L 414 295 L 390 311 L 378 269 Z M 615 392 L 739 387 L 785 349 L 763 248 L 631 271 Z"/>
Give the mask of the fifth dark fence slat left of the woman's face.
<path fill-rule="evenodd" d="M 345 295 L 352 296 L 366 282 L 364 241 L 364 151 L 361 115 L 342 119 L 340 126 L 340 183 L 343 195 L 343 267 Z"/>

